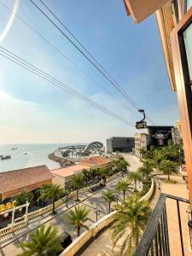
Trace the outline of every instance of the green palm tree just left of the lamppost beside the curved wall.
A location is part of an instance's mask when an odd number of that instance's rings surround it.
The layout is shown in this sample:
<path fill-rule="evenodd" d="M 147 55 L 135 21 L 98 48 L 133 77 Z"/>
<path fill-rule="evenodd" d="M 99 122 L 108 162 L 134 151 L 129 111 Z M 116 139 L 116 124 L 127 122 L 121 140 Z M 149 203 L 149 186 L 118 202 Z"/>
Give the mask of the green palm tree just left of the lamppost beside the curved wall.
<path fill-rule="evenodd" d="M 75 226 L 75 228 L 77 229 L 77 234 L 78 236 L 80 236 L 80 229 L 81 228 L 85 228 L 85 229 L 89 229 L 84 222 L 86 222 L 87 220 L 90 220 L 90 218 L 88 218 L 88 214 L 90 212 L 90 209 L 87 209 L 84 206 L 78 206 L 78 207 L 74 207 L 74 210 L 71 210 L 68 212 L 67 215 L 67 219 L 69 221 L 69 224 Z"/>

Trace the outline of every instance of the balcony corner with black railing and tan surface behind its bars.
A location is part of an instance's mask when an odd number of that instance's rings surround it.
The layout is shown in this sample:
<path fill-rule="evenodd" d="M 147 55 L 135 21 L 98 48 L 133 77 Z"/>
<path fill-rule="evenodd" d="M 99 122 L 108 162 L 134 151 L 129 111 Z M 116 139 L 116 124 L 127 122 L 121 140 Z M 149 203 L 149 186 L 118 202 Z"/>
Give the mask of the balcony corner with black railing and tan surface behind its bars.
<path fill-rule="evenodd" d="M 161 194 L 134 256 L 189 255 L 188 210 L 189 200 Z"/>

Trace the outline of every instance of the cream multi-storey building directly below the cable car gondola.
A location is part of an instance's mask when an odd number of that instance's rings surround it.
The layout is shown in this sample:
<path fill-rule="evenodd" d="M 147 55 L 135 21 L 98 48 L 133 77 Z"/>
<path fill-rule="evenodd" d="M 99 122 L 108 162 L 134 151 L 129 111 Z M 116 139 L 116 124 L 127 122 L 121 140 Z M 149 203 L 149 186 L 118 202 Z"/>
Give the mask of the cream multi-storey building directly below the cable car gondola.
<path fill-rule="evenodd" d="M 148 149 L 148 134 L 136 133 L 135 134 L 135 155 L 142 158 L 141 149 Z"/>

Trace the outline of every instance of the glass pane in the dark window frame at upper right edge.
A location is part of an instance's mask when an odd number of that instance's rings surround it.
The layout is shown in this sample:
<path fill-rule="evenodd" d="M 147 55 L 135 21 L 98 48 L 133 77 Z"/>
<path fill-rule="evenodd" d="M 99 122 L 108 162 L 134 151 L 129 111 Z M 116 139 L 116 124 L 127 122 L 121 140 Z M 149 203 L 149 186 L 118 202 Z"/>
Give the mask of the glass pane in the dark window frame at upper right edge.
<path fill-rule="evenodd" d="M 189 80 L 192 81 L 192 23 L 183 32 L 183 38 L 189 67 Z"/>

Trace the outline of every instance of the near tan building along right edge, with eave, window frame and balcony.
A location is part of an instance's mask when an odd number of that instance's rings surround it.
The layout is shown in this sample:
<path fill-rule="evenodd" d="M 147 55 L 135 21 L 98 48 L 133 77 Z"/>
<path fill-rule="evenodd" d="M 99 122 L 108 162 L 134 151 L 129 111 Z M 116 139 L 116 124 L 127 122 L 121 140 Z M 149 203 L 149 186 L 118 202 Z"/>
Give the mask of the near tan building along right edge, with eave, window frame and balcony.
<path fill-rule="evenodd" d="M 148 255 L 149 252 L 156 253 L 157 249 L 154 248 L 154 241 L 155 247 L 160 248 L 160 254 L 192 255 L 192 220 L 189 220 L 191 219 L 192 208 L 192 1 L 124 0 L 124 3 L 127 15 L 131 15 L 136 23 L 155 13 L 171 88 L 177 93 L 180 115 L 179 128 L 181 128 L 183 138 L 185 166 L 188 176 L 187 188 L 189 189 L 189 201 L 185 198 L 172 198 L 172 201 L 177 202 L 177 213 L 174 214 L 172 214 L 173 204 L 172 208 L 165 210 L 166 198 L 169 198 L 169 196 L 166 194 L 160 195 L 134 255 Z M 178 130 L 180 130 L 179 128 Z M 179 201 L 183 201 L 185 204 L 189 203 L 188 217 L 186 216 L 186 207 L 183 208 L 182 224 L 184 228 L 181 224 Z M 167 219 L 167 214 L 174 218 L 168 218 L 168 224 L 174 223 L 174 225 L 172 225 L 172 229 L 164 229 L 160 232 L 162 217 Z M 178 222 L 175 221 L 176 215 Z M 182 229 L 184 230 L 182 231 Z M 183 236 L 184 232 L 189 233 L 186 233 L 187 236 Z M 176 233 L 179 233 L 180 239 L 175 238 Z M 160 240 L 163 241 L 159 245 L 156 242 L 158 236 L 161 236 L 162 240 Z M 171 237 L 173 240 L 170 249 Z M 166 242 L 164 243 L 164 241 Z M 174 251 L 175 247 L 177 250 Z M 184 247 L 186 251 L 184 251 Z"/>

